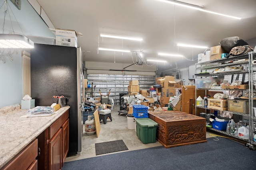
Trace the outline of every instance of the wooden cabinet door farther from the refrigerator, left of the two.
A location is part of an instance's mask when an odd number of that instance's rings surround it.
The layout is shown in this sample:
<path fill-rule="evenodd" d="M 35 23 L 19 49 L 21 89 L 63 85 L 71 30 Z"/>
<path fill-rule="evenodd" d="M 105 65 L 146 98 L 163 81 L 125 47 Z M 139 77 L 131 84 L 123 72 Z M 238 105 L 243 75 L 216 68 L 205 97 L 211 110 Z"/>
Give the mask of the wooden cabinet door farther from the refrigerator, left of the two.
<path fill-rule="evenodd" d="M 49 170 L 60 170 L 62 167 L 62 129 L 49 142 Z"/>

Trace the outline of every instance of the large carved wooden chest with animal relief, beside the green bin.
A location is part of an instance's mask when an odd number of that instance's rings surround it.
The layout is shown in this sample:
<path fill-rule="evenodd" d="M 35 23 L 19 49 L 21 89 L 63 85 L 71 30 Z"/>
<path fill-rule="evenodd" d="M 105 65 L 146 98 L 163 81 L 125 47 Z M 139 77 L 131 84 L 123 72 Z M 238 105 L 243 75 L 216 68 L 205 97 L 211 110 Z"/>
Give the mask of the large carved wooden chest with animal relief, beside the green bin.
<path fill-rule="evenodd" d="M 206 119 L 191 114 L 156 116 L 158 142 L 165 148 L 206 142 Z"/>

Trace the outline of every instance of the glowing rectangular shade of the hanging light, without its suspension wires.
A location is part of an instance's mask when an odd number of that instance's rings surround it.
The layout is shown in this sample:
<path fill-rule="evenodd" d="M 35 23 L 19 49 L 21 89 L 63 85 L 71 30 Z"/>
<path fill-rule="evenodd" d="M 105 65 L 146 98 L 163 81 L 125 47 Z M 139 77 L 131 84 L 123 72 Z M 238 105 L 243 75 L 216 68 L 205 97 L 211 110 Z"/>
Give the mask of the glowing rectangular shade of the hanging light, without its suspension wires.
<path fill-rule="evenodd" d="M 19 34 L 0 34 L 0 48 L 34 48 L 34 42 Z"/>

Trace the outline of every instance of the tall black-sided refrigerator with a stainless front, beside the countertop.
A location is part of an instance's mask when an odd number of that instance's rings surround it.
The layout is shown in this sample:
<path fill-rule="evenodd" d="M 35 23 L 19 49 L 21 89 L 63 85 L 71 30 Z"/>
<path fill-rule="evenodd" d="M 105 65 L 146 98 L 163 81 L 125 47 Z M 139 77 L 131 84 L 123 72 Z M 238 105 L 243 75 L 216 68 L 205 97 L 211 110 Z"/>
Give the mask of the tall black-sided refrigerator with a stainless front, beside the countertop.
<path fill-rule="evenodd" d="M 34 44 L 30 51 L 31 97 L 35 106 L 51 106 L 53 96 L 65 96 L 70 106 L 69 152 L 82 149 L 82 111 L 84 75 L 80 47 Z"/>

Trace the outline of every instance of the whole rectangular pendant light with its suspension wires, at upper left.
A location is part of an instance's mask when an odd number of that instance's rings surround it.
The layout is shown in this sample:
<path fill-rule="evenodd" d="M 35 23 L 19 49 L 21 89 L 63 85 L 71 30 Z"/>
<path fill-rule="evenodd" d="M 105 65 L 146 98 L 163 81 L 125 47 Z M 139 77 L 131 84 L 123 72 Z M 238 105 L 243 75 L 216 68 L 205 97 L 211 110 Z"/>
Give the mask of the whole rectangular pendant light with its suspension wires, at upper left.
<path fill-rule="evenodd" d="M 2 5 L 3 6 L 3 5 Z M 3 33 L 0 34 L 0 48 L 34 48 L 34 42 L 25 37 L 25 35 L 20 35 L 20 34 L 15 34 L 14 29 L 12 27 L 12 34 L 6 34 L 4 33 L 4 24 L 5 24 L 5 19 L 6 15 L 9 14 L 9 9 L 10 5 L 8 4 L 7 0 L 4 0 L 4 23 L 3 23 Z M 12 12 L 13 14 L 13 12 Z M 14 15 L 14 14 L 13 14 Z M 14 16 L 15 18 L 15 16 Z M 16 20 L 16 18 L 15 18 Z M 12 20 L 11 25 L 12 25 Z M 16 20 L 17 21 L 17 20 Z M 18 21 L 17 21 L 18 23 Z M 18 23 L 19 25 L 19 23 Z M 20 25 L 19 25 L 20 27 Z M 21 29 L 21 27 L 20 27 Z M 22 31 L 22 29 L 21 29 Z M 22 31 L 23 33 L 23 31 Z M 24 33 L 23 33 L 24 34 Z"/>

